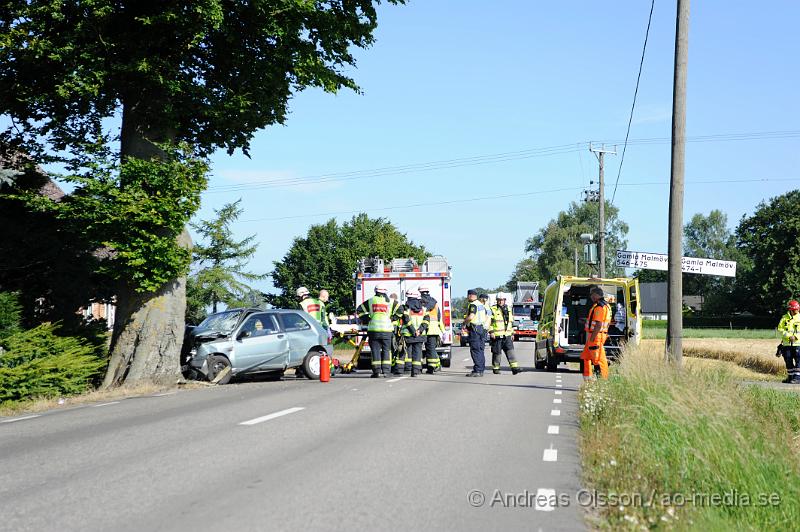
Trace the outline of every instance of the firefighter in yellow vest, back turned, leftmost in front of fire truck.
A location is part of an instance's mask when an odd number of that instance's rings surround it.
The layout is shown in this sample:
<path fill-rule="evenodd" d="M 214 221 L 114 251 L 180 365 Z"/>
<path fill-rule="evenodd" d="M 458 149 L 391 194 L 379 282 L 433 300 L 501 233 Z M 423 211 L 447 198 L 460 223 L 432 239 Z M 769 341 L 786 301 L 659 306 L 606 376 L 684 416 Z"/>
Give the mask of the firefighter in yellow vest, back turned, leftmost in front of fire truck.
<path fill-rule="evenodd" d="M 359 305 L 356 314 L 367 324 L 367 338 L 372 352 L 372 378 L 387 377 L 392 370 L 392 320 L 400 311 L 397 301 L 386 295 L 386 285 L 375 287 L 375 295 Z"/>

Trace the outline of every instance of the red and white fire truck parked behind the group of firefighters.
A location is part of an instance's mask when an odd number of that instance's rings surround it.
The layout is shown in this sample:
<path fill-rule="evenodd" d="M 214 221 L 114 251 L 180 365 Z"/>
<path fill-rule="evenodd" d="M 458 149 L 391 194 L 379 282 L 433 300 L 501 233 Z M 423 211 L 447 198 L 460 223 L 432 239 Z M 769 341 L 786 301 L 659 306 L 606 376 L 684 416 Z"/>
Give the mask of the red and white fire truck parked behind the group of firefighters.
<path fill-rule="evenodd" d="M 388 287 L 390 298 L 402 304 L 406 292 L 419 289 L 420 285 L 430 288 L 431 297 L 439 303 L 444 331 L 442 340 L 436 348 L 442 366 L 450 367 L 450 351 L 453 345 L 452 308 L 450 306 L 450 266 L 441 255 L 428 257 L 422 265 L 413 258 L 399 258 L 385 261 L 379 257 L 364 258 L 358 261 L 353 274 L 356 286 L 356 308 L 375 295 L 375 286 L 383 283 Z M 358 361 L 360 369 L 371 367 L 369 346 L 364 345 Z"/>

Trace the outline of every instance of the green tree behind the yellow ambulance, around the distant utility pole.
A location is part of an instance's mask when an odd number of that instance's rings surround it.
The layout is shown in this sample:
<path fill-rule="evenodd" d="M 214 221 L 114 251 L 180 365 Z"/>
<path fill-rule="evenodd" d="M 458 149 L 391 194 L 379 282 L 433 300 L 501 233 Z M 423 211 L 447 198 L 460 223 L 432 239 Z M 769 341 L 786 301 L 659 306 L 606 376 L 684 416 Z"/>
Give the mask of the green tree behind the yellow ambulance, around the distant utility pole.
<path fill-rule="evenodd" d="M 529 261 L 523 261 L 522 273 L 536 279 L 516 278 L 517 281 L 539 281 L 546 286 L 557 275 L 575 274 L 575 253 L 578 253 L 578 275 L 597 273 L 583 262 L 582 233 L 597 234 L 599 204 L 572 202 L 569 209 L 561 211 L 525 243 Z M 625 249 L 628 224 L 620 220 L 619 208 L 606 202 L 606 276 L 622 275 L 623 268 L 615 265 L 617 249 Z M 516 273 L 516 272 L 515 272 Z"/>

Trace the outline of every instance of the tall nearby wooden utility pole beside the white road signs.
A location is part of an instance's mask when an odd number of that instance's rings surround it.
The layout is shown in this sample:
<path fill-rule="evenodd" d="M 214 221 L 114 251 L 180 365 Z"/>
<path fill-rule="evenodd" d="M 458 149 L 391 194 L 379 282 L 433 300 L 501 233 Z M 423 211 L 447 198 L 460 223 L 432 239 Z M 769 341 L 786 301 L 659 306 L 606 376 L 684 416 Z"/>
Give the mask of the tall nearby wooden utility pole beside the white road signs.
<path fill-rule="evenodd" d="M 667 358 L 683 359 L 683 175 L 686 152 L 686 73 L 689 60 L 689 0 L 678 0 L 675 22 L 675 72 L 672 85 L 672 163 L 669 184 L 667 277 Z"/>

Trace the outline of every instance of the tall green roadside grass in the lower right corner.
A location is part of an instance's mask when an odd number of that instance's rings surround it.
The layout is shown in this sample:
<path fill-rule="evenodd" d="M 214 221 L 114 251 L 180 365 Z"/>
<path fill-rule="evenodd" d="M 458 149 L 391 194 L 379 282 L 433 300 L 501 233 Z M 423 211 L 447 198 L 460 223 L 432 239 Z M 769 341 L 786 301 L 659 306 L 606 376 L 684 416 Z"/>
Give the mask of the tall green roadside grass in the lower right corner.
<path fill-rule="evenodd" d="M 800 394 L 720 365 L 677 371 L 626 352 L 580 394 L 591 524 L 613 530 L 788 530 L 800 523 Z M 706 362 L 706 361 L 703 361 Z"/>

